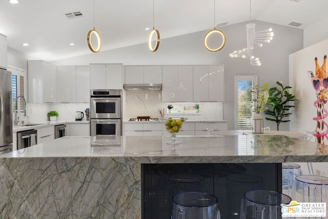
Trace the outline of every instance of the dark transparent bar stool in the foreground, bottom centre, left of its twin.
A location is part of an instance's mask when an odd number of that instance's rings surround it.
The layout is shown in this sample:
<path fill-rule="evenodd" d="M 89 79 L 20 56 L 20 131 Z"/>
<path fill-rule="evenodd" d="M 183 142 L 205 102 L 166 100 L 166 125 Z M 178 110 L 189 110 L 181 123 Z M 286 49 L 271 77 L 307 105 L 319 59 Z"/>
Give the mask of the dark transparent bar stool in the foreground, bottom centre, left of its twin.
<path fill-rule="evenodd" d="M 172 219 L 220 219 L 217 198 L 203 192 L 181 192 L 173 196 Z"/>

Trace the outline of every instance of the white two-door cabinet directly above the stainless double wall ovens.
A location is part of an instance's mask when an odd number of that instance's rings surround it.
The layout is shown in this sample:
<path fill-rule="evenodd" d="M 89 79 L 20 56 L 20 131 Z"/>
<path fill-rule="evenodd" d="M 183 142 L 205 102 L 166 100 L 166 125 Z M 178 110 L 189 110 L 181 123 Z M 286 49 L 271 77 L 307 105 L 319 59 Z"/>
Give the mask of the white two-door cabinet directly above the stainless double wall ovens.
<path fill-rule="evenodd" d="M 121 90 L 122 71 L 122 64 L 90 64 L 90 89 Z"/>

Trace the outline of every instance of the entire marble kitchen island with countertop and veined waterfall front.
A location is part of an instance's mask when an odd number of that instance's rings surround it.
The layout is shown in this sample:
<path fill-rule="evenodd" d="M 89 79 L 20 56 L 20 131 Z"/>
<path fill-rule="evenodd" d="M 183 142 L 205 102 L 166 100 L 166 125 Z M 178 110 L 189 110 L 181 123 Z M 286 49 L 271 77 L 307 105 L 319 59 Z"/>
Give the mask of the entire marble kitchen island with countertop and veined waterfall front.
<path fill-rule="evenodd" d="M 286 136 L 64 137 L 0 157 L 2 218 L 141 218 L 141 164 L 328 162 Z"/>

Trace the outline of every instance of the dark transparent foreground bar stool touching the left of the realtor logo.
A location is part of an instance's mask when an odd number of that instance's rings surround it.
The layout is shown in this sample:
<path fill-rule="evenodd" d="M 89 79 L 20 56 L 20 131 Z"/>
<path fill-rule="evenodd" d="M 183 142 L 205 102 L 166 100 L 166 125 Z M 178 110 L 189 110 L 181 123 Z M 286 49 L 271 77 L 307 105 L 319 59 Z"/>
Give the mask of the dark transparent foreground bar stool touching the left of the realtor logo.
<path fill-rule="evenodd" d="M 289 204 L 290 196 L 269 190 L 253 190 L 244 194 L 240 219 L 277 219 L 281 218 L 280 204 Z"/>

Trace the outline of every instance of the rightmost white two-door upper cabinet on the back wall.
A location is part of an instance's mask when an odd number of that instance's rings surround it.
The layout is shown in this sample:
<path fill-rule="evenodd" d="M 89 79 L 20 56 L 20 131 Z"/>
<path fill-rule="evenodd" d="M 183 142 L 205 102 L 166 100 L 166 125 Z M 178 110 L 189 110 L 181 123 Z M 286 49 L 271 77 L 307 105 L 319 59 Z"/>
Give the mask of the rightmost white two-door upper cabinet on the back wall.
<path fill-rule="evenodd" d="M 194 65 L 194 102 L 224 101 L 224 66 Z"/>

